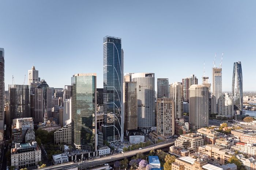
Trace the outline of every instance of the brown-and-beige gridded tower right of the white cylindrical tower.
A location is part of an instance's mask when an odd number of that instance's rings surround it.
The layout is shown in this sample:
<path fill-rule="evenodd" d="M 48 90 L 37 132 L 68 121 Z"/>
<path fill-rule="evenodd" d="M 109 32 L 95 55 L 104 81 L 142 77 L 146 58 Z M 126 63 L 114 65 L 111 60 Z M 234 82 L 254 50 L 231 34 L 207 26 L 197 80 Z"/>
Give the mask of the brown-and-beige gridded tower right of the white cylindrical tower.
<path fill-rule="evenodd" d="M 157 99 L 157 133 L 161 136 L 174 135 L 174 100 Z"/>

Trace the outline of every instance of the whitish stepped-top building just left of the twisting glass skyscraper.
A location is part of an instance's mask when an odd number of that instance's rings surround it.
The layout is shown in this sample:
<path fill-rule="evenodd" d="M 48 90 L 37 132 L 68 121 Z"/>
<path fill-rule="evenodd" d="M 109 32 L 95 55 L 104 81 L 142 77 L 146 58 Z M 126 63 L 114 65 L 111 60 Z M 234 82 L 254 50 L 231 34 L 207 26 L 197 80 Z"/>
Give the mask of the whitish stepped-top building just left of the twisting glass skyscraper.
<path fill-rule="evenodd" d="M 226 117 L 234 115 L 234 101 L 233 97 L 228 93 L 221 95 L 218 99 L 218 114 Z"/>

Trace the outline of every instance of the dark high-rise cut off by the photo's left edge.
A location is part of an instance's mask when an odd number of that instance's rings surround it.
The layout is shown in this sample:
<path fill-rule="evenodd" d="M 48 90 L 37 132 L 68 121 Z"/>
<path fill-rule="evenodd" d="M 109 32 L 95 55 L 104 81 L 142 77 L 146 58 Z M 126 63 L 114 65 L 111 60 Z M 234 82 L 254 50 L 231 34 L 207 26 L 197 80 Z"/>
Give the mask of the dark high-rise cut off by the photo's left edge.
<path fill-rule="evenodd" d="M 4 48 L 0 48 L 0 141 L 4 135 Z"/>

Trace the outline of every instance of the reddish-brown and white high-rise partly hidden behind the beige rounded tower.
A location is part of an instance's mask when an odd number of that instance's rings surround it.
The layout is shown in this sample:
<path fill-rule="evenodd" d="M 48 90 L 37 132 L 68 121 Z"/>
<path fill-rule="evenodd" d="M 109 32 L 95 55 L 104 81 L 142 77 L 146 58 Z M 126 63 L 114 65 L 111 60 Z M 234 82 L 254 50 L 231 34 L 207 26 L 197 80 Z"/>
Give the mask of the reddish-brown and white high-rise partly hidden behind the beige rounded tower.
<path fill-rule="evenodd" d="M 184 96 L 184 101 L 189 102 L 189 87 L 192 84 L 198 84 L 198 79 L 194 74 L 191 76 L 182 79 L 182 85 L 183 85 L 183 96 Z"/>

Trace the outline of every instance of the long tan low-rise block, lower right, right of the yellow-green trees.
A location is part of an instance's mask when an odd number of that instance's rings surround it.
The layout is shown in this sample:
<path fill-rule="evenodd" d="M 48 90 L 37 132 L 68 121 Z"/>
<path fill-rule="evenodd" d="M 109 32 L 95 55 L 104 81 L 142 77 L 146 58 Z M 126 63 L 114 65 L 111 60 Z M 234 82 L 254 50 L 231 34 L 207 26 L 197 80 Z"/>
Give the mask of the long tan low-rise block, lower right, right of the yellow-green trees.
<path fill-rule="evenodd" d="M 233 155 L 234 151 L 225 149 L 216 145 L 204 145 L 199 147 L 199 152 L 208 155 L 209 159 L 214 160 L 220 164 L 226 164 Z"/>

